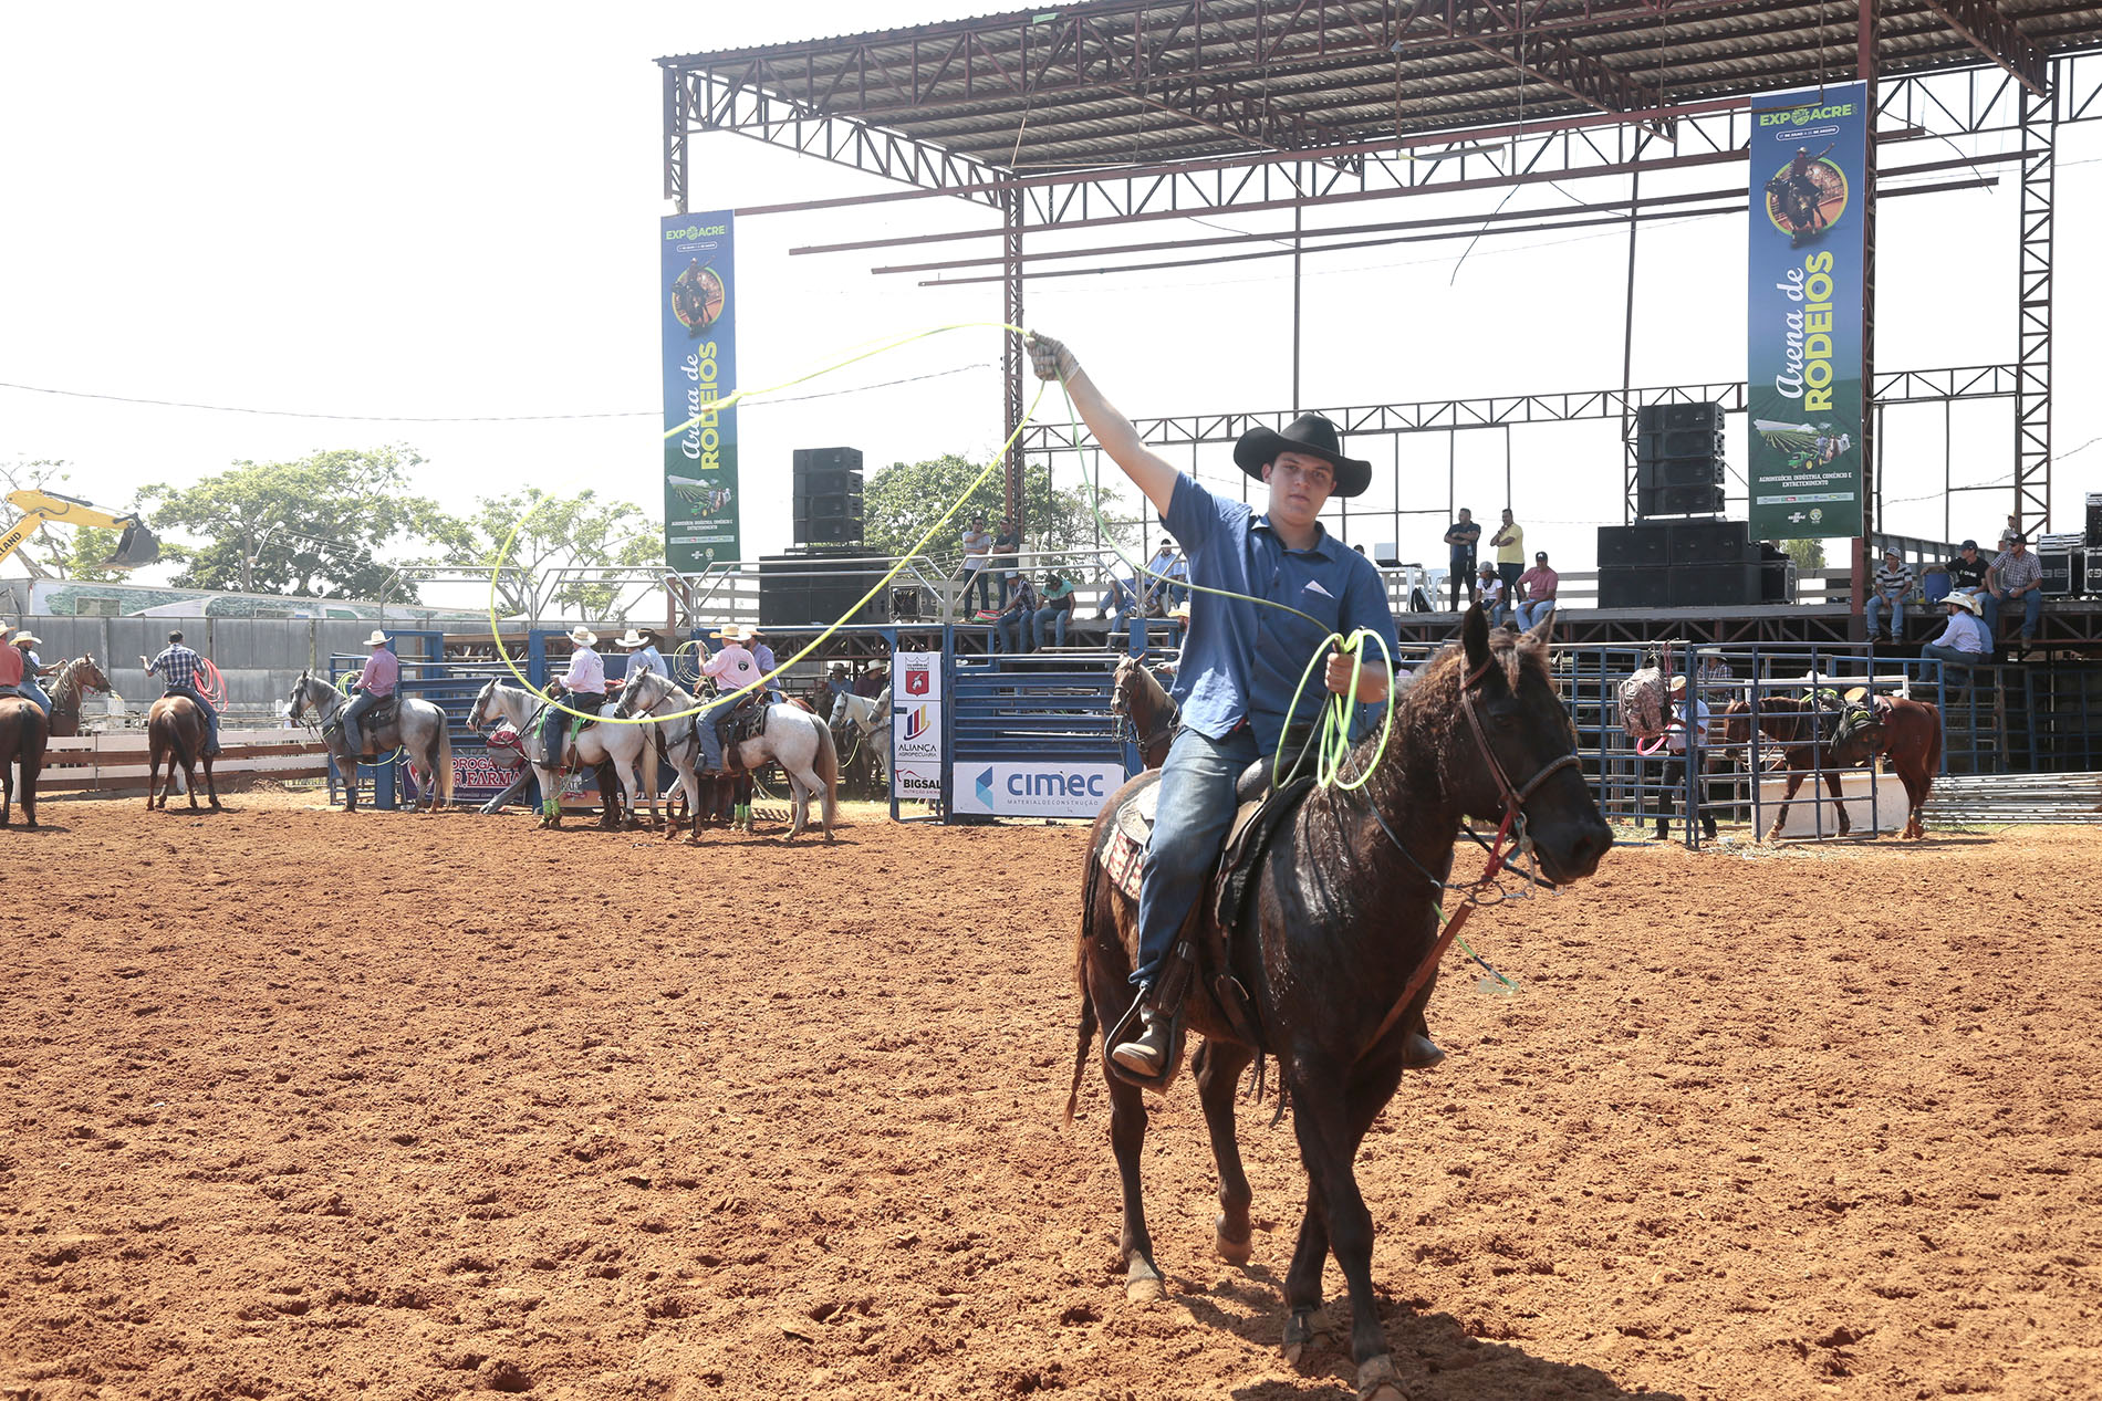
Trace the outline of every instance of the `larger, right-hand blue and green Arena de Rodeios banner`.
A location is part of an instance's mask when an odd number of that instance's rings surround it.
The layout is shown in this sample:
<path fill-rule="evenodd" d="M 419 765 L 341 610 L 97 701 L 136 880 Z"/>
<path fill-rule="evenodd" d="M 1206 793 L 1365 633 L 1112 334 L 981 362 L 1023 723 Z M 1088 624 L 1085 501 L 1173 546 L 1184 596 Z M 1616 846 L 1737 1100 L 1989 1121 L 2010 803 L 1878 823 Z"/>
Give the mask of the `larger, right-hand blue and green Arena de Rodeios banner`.
<path fill-rule="evenodd" d="M 1867 86 L 1751 103 L 1751 534 L 1858 536 Z"/>

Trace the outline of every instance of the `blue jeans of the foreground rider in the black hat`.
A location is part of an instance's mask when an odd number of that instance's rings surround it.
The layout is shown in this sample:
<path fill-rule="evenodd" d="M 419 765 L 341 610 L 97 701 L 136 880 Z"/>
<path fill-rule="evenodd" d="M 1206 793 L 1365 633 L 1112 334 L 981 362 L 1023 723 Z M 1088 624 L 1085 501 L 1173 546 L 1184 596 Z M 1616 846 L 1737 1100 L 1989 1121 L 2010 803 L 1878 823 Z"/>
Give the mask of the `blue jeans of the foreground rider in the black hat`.
<path fill-rule="evenodd" d="M 1175 731 L 1169 760 L 1160 765 L 1160 807 L 1146 846 L 1133 983 L 1146 987 L 1160 977 L 1175 933 L 1219 863 L 1219 846 L 1234 823 L 1234 779 L 1257 758 L 1255 731 L 1246 725 L 1225 739 L 1194 729 Z"/>

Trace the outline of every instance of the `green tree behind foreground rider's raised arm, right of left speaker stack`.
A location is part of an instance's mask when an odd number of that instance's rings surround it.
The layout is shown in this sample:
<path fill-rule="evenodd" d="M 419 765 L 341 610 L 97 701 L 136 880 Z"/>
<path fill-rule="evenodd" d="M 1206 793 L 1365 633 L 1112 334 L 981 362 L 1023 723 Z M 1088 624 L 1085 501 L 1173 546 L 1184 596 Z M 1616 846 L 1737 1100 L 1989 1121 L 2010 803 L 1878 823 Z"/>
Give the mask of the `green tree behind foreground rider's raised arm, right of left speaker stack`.
<path fill-rule="evenodd" d="M 950 504 L 963 496 L 984 464 L 969 462 L 956 454 L 933 458 L 931 462 L 893 462 L 879 468 L 868 479 L 862 496 L 864 540 L 881 555 L 904 555 L 927 534 Z M 1051 468 L 1043 462 L 1026 462 L 1022 468 L 1024 534 L 1032 548 L 1043 550 L 1087 550 L 1095 546 L 1095 513 L 1089 508 L 1093 483 L 1053 489 Z M 973 515 L 984 515 L 998 529 L 1007 515 L 1005 475 L 994 471 L 986 477 L 963 508 L 948 519 L 948 525 L 927 542 L 927 552 L 950 561 L 961 555 L 956 538 L 971 525 Z M 1125 519 L 1129 506 L 1116 492 L 1101 492 L 1101 515 L 1108 538 L 1129 546 L 1135 538 L 1137 521 Z"/>

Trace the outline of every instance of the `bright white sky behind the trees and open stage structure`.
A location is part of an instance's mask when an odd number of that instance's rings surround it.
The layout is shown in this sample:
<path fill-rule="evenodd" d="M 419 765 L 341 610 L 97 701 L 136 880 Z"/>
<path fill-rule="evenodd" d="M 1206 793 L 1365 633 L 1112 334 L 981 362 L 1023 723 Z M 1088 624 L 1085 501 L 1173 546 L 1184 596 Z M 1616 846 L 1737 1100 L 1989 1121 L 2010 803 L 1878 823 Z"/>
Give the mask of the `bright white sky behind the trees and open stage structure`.
<path fill-rule="evenodd" d="M 727 4 L 17 4 L 0 11 L 0 380 L 101 395 L 307 414 L 521 416 L 643 412 L 578 422 L 326 422 L 61 399 L 0 389 L 0 460 L 63 458 L 67 489 L 128 504 L 141 483 L 189 483 L 240 458 L 410 443 L 418 489 L 475 496 L 593 485 L 660 506 L 658 214 L 666 53 L 864 32 L 982 13 L 935 0 Z M 200 19 L 208 15 L 208 19 Z M 1913 145 L 1885 164 L 1940 160 Z M 885 189 L 874 176 L 740 137 L 696 143 L 696 210 Z M 2064 128 L 2058 176 L 2056 529 L 2102 489 L 2102 122 Z M 2014 357 L 2014 166 L 2003 183 L 1890 200 L 1881 225 L 1883 368 Z M 1722 189 L 1724 166 L 1644 193 Z M 1949 179 L 1946 174 L 1934 179 Z M 1621 181 L 1568 185 L 1579 200 Z M 1474 200 L 1461 204 L 1461 200 Z M 1520 195 L 1551 204 L 1553 191 Z M 1406 206 L 1406 214 L 1402 212 Z M 1320 223 L 1486 212 L 1495 195 L 1406 200 Z M 1377 210 L 1377 212 L 1368 212 Z M 1268 218 L 1270 223 L 1261 223 Z M 738 225 L 746 382 L 801 374 L 834 351 L 950 321 L 994 321 L 998 288 L 921 288 L 870 275 L 877 254 L 788 256 L 801 244 L 984 227 L 986 210 L 912 202 Z M 1225 216 L 1278 229 L 1278 216 Z M 1209 233 L 1194 229 L 1192 233 Z M 1148 237 L 1162 237 L 1152 225 Z M 1743 376 L 1743 218 L 1642 229 L 1635 382 Z M 1097 239 L 1114 242 L 1114 239 Z M 1051 246 L 1043 239 L 1036 246 Z M 1625 233 L 1404 244 L 1307 258 L 1303 407 L 1574 391 L 1619 384 Z M 990 244 L 942 244 L 961 256 Z M 1291 263 L 1028 284 L 1028 323 L 1068 338 L 1133 414 L 1289 405 Z M 746 555 L 788 544 L 788 454 L 847 443 L 870 466 L 942 452 L 984 458 L 1001 437 L 994 332 L 937 336 L 795 393 L 977 365 L 961 374 L 742 412 Z M 2005 403 L 1955 420 L 1957 485 L 2012 481 Z M 1740 426 L 1736 428 L 1743 431 Z M 1522 428 L 1511 481 L 1528 542 L 1593 563 L 1593 525 L 1619 523 L 1616 424 Z M 2066 456 L 2073 454 L 2073 456 Z M 1381 445 L 1360 502 L 1394 510 Z M 1459 504 L 1505 504 L 1501 433 L 1452 445 Z M 1740 443 L 1734 460 L 1743 460 Z M 1225 449 L 1198 464 L 1232 481 Z M 1942 536 L 1940 410 L 1892 414 L 1885 525 Z M 1740 489 L 1740 483 L 1738 483 Z M 1436 561 L 1446 439 L 1402 456 L 1402 557 Z M 1923 500 L 1915 500 L 1923 498 Z M 1959 498 L 1951 531 L 1991 538 L 2010 492 Z M 1345 536 L 1394 540 L 1392 515 Z"/>

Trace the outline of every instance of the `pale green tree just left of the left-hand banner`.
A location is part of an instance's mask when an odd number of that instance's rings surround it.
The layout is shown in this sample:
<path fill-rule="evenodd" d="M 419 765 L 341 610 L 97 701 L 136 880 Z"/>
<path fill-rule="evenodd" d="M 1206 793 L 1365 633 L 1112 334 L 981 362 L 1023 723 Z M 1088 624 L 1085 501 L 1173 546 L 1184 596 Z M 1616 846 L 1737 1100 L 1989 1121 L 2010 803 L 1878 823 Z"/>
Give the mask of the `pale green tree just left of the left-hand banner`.
<path fill-rule="evenodd" d="M 641 506 L 599 500 L 589 489 L 549 496 L 528 487 L 513 496 L 483 498 L 465 517 L 433 519 L 427 534 L 441 546 L 444 563 L 462 569 L 490 569 L 502 555 L 496 607 L 511 618 L 547 618 L 563 607 L 603 618 L 620 599 L 622 586 L 565 578 L 565 569 L 664 565 L 664 534 L 656 521 Z"/>

